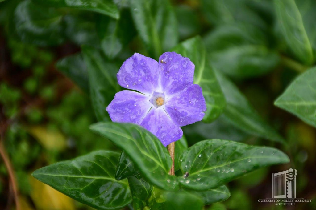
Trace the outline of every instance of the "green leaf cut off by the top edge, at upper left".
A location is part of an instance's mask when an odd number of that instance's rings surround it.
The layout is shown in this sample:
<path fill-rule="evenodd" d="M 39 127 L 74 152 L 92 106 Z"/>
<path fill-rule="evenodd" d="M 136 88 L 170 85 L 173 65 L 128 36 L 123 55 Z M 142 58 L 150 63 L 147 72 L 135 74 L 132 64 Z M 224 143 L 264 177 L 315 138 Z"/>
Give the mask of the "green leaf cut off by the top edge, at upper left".
<path fill-rule="evenodd" d="M 46 7 L 74 8 L 98 12 L 119 19 L 119 9 L 112 0 L 33 0 Z"/>

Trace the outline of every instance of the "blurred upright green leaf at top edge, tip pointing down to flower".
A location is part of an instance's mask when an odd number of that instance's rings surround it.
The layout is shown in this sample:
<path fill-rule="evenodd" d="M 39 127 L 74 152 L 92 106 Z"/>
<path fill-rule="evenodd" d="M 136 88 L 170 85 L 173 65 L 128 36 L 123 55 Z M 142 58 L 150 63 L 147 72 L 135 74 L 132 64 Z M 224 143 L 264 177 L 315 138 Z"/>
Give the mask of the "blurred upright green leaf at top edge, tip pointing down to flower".
<path fill-rule="evenodd" d="M 155 59 L 178 43 L 177 20 L 169 0 L 133 0 L 134 25 L 149 55 Z"/>

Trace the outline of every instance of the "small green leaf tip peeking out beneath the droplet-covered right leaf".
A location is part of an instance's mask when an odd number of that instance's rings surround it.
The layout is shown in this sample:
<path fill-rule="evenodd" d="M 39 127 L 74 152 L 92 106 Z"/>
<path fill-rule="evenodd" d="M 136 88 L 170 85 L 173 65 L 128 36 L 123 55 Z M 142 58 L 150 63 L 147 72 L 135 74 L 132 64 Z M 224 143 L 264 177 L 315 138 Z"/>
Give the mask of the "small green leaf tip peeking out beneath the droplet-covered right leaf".
<path fill-rule="evenodd" d="M 202 198 L 202 200 L 204 201 L 204 205 L 210 205 L 212 203 L 225 201 L 230 196 L 230 192 L 225 185 L 206 191 L 194 191 L 188 189 L 185 190 Z"/>

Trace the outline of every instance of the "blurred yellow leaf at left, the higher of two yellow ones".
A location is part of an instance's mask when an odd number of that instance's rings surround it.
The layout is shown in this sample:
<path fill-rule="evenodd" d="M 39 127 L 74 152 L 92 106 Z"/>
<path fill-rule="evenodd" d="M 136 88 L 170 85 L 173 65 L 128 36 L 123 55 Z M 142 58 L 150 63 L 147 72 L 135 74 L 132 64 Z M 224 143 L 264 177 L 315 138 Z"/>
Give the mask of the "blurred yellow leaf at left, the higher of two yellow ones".
<path fill-rule="evenodd" d="M 66 148 L 66 138 L 57 130 L 49 130 L 44 126 L 28 128 L 30 134 L 48 150 L 62 151 Z"/>

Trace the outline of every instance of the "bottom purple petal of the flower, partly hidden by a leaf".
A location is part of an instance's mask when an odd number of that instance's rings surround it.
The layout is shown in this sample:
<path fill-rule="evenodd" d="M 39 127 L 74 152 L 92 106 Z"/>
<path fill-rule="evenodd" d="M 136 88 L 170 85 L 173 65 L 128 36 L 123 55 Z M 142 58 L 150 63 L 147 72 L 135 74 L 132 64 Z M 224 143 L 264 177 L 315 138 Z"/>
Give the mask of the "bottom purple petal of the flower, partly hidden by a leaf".
<path fill-rule="evenodd" d="M 152 132 L 165 147 L 183 135 L 181 128 L 170 120 L 163 108 L 152 108 L 140 125 Z"/>

